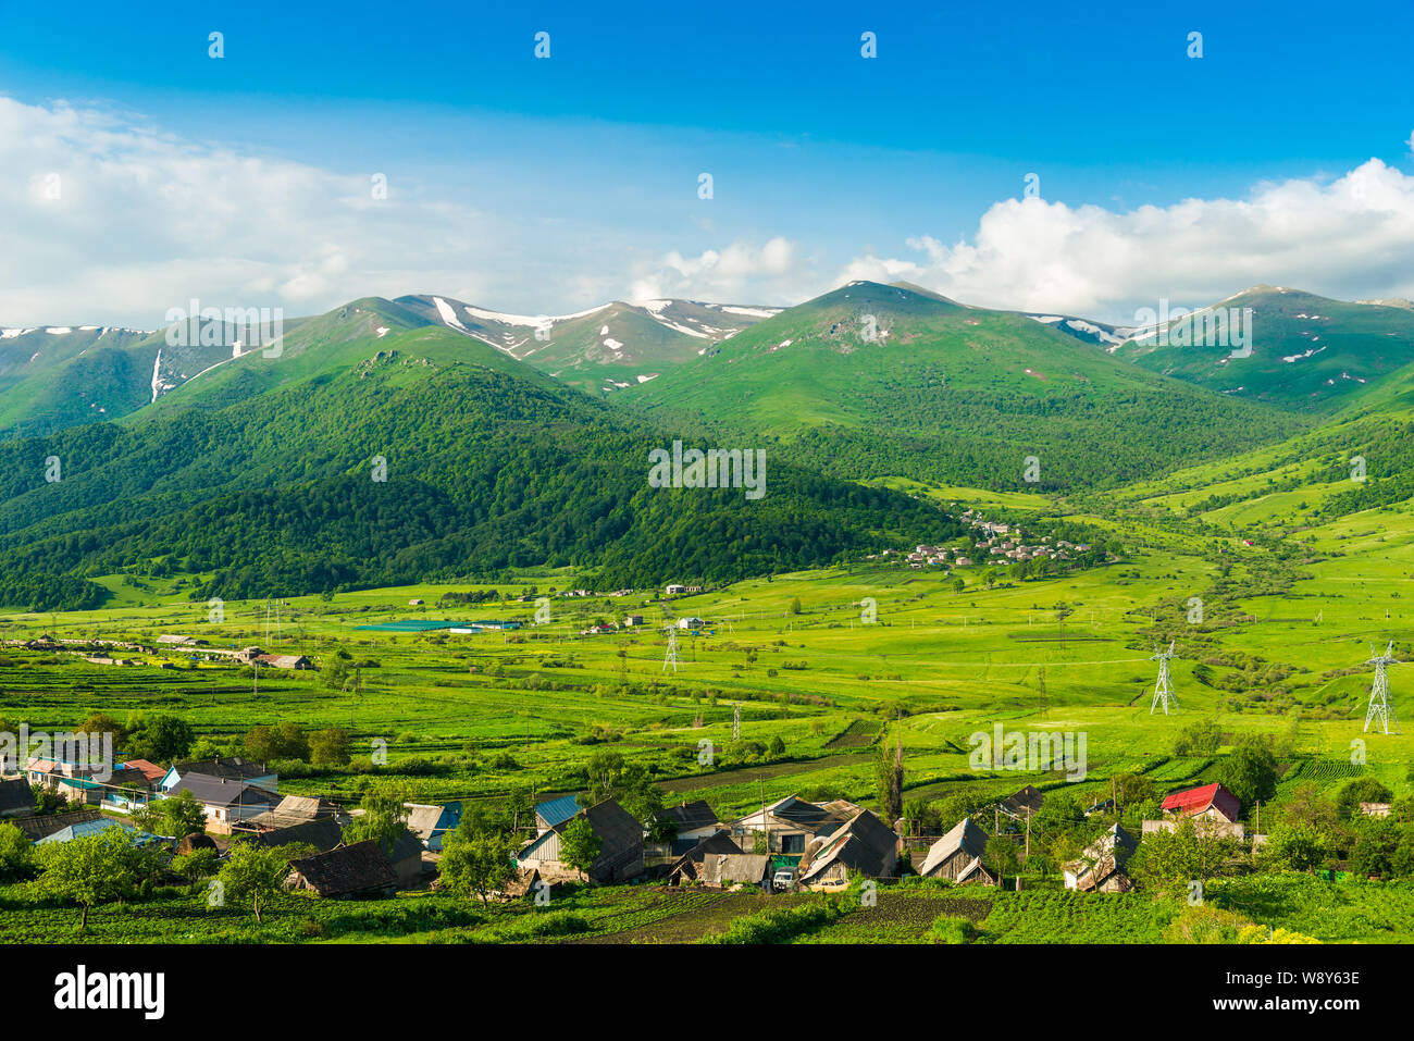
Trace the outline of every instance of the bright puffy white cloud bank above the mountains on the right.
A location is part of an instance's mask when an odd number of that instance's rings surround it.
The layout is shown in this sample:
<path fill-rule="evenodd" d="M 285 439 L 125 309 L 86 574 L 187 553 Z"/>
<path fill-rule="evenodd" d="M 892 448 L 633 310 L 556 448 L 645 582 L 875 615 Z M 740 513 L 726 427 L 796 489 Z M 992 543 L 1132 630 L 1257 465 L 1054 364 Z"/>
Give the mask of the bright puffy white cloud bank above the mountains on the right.
<path fill-rule="evenodd" d="M 906 245 L 915 256 L 855 257 L 836 283 L 905 279 L 983 307 L 1121 322 L 1158 297 L 1206 304 L 1254 283 L 1414 296 L 1414 177 L 1372 158 L 1333 181 L 1260 184 L 1244 199 L 1128 212 L 1007 199 L 971 240 Z"/>

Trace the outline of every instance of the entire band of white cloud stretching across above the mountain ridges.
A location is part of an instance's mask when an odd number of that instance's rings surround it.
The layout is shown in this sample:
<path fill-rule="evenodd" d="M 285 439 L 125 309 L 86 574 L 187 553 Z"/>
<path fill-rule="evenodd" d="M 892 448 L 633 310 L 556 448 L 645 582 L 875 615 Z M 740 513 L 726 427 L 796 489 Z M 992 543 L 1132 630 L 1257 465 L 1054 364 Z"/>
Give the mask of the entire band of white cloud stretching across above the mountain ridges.
<path fill-rule="evenodd" d="M 1159 297 L 1196 306 L 1257 281 L 1414 296 L 1414 177 L 1379 160 L 1241 199 L 1124 212 L 1007 199 L 959 242 L 916 235 L 896 256 L 870 250 L 843 266 L 837 246 L 826 259 L 817 243 L 699 218 L 696 235 L 727 245 L 665 250 L 673 240 L 653 239 L 674 232 L 537 215 L 489 188 L 474 208 L 455 185 L 443 198 L 393 171 L 378 201 L 373 173 L 188 141 L 122 110 L 0 96 L 0 324 L 153 328 L 192 297 L 293 315 L 413 291 L 529 314 L 615 297 L 789 304 L 854 279 L 1120 322 Z"/>

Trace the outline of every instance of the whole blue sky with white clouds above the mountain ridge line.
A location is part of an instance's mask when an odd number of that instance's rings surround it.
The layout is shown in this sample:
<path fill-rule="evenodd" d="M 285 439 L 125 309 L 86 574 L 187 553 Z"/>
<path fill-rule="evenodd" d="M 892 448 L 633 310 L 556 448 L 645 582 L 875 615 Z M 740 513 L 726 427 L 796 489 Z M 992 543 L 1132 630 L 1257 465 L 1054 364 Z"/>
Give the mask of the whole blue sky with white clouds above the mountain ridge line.
<path fill-rule="evenodd" d="M 550 33 L 544 61 L 533 57 L 542 30 Z M 1103 214 L 1082 221 L 1089 231 L 1053 249 L 1073 255 L 1120 235 L 1135 255 L 1182 245 L 1192 267 L 1212 270 L 1212 257 L 1178 228 L 1185 199 L 1253 201 L 1263 185 L 1288 181 L 1329 187 L 1372 158 L 1381 164 L 1373 175 L 1401 205 L 1414 127 L 1411 30 L 1407 3 L 1339 11 L 1192 3 L 612 11 L 11 4 L 0 7 L 0 96 L 25 106 L 18 124 L 30 127 L 34 110 L 52 113 L 61 102 L 102 113 L 102 127 L 81 120 L 88 158 L 65 184 L 78 178 L 95 201 L 96 178 L 112 165 L 103 149 L 116 149 L 119 161 L 157 170 L 144 174 L 150 181 L 181 185 L 151 199 L 129 185 L 124 207 L 148 205 L 147 226 L 187 225 L 201 212 L 195 197 L 212 192 L 205 207 L 219 242 L 184 246 L 143 236 L 141 223 L 127 235 L 109 228 L 83 245 L 88 281 L 72 260 L 61 279 L 48 279 L 42 264 L 16 272 L 28 284 L 0 294 L 0 321 L 17 311 L 38 320 L 31 308 L 81 294 L 103 313 L 45 320 L 141 324 L 177 291 L 164 264 L 205 272 L 198 280 L 223 296 L 273 293 L 294 310 L 413 290 L 532 313 L 649 291 L 795 303 L 847 274 L 880 272 L 994 306 L 1025 290 L 1031 296 L 1015 306 L 1087 308 L 1111 320 L 1157 294 L 1205 303 L 1185 297 L 1226 296 L 1253 281 L 1404 291 L 1403 239 L 1376 243 L 1400 248 L 1383 267 L 1352 262 L 1339 270 L 1312 266 L 1314 243 L 1274 242 L 1251 259 L 1250 277 L 1222 270 L 1212 284 L 1182 266 L 1161 266 L 1148 281 L 1111 286 L 1114 276 L 1097 272 L 1072 284 L 1063 256 L 1025 273 L 1001 255 L 1059 233 L 1092 207 Z M 211 31 L 223 34 L 219 61 L 208 57 Z M 861 58 L 864 31 L 877 34 L 874 59 Z M 1192 31 L 1203 34 L 1200 59 L 1186 55 Z M 165 160 L 147 147 L 134 158 L 113 146 L 115 120 L 170 143 L 173 173 L 161 173 Z M 64 167 L 64 141 L 76 134 L 55 127 L 58 151 L 31 157 L 38 165 L 23 175 L 33 182 Z M 228 171 L 242 158 L 274 164 L 301 184 L 305 173 L 322 173 L 341 191 L 383 173 L 396 212 L 359 223 L 345 208 L 320 219 L 317 198 L 339 192 L 310 185 L 260 207 L 257 185 L 233 185 L 233 174 L 188 177 L 181 156 L 205 156 Z M 697 198 L 703 171 L 714 178 L 710 201 Z M 1021 197 L 1028 173 L 1041 178 L 1045 207 L 997 212 Z M 1134 216 L 1144 207 L 1168 214 L 1165 236 L 1144 238 Z M 1213 249 L 1230 246 L 1236 228 L 1212 223 L 1220 216 L 1206 211 Z M 47 233 L 33 215 L 16 226 L 35 242 Z M 1008 245 L 1003 232 L 1019 239 Z M 414 245 L 428 238 L 434 248 L 419 259 Z M 771 250 L 772 242 L 785 246 Z M 986 257 L 957 252 L 988 242 Z M 105 272 L 143 266 L 154 276 L 150 300 L 134 293 L 136 281 L 122 298 L 105 298 Z"/>

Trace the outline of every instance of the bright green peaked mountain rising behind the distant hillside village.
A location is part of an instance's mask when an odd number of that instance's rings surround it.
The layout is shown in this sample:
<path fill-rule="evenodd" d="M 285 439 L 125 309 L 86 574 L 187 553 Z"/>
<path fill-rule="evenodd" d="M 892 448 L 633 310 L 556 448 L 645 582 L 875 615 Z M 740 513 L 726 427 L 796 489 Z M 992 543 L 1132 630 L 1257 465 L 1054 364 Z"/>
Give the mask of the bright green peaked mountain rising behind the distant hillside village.
<path fill-rule="evenodd" d="M 1144 371 L 1031 317 L 855 281 L 615 402 L 850 478 L 1107 487 L 1291 436 L 1275 409 Z"/>

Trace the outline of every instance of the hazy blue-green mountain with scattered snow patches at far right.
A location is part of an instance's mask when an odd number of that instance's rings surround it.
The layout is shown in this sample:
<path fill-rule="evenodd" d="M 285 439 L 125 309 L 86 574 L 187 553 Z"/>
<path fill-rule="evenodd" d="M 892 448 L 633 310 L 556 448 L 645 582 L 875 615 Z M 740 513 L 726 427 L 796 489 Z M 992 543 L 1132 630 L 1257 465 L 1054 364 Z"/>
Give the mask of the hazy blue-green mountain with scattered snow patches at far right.
<path fill-rule="evenodd" d="M 1250 356 L 1234 356 L 1230 337 L 1229 345 L 1213 344 L 1206 335 L 1185 339 L 1176 335 L 1179 322 L 1110 349 L 1151 372 L 1233 397 L 1331 413 L 1414 362 L 1414 310 L 1403 303 L 1350 304 L 1281 286 L 1254 286 L 1200 308 L 1191 320 L 1193 332 L 1202 322 L 1206 334 L 1209 315 L 1251 308 Z"/>

